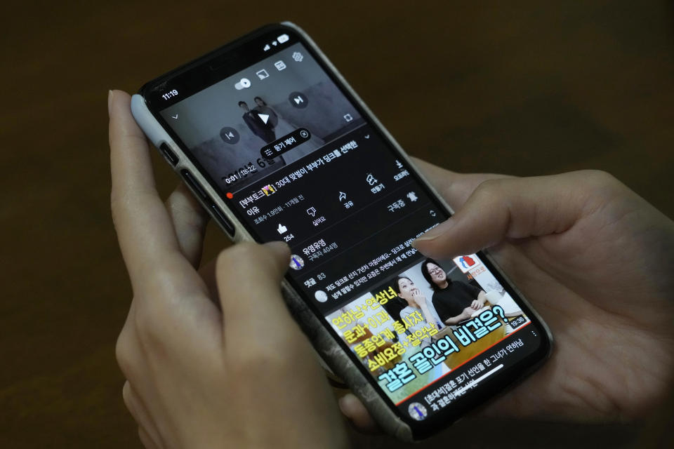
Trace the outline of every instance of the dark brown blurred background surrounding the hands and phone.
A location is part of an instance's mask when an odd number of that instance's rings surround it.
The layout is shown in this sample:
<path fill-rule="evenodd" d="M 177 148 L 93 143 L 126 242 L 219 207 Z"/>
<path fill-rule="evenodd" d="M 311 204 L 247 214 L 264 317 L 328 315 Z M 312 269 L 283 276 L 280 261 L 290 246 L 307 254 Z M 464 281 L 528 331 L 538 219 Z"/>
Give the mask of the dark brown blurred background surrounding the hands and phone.
<path fill-rule="evenodd" d="M 2 9 L 1 448 L 140 447 L 114 361 L 131 290 L 110 220 L 107 91 L 135 91 L 266 22 L 304 27 L 415 156 L 515 175 L 601 168 L 674 215 L 670 2 L 70 1 Z M 169 192 L 176 177 L 156 161 L 161 192 Z M 226 244 L 211 229 L 206 255 Z M 637 433 L 464 420 L 430 443 L 624 447 Z M 392 447 L 384 437 L 355 444 Z"/>

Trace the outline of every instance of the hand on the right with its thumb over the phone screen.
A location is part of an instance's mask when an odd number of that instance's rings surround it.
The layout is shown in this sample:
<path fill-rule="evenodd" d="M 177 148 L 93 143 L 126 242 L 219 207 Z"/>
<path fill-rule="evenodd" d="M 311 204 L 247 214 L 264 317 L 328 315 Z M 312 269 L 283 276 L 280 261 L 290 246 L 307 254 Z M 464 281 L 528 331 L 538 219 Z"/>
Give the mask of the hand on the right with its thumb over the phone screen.
<path fill-rule="evenodd" d="M 418 161 L 456 210 L 418 239 L 440 259 L 490 253 L 555 336 L 550 361 L 482 413 L 633 420 L 667 396 L 674 367 L 674 223 L 596 171 L 513 178 Z M 371 425 L 353 397 L 345 414 Z"/>

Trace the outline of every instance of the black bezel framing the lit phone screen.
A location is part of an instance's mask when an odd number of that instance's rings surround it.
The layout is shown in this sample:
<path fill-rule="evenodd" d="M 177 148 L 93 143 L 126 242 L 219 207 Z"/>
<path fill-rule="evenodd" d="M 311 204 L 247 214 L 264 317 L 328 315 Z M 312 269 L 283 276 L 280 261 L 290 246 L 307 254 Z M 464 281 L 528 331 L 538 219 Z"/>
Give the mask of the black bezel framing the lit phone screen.
<path fill-rule="evenodd" d="M 279 33 L 286 33 L 289 35 L 289 41 L 284 43 L 284 46 L 275 46 L 272 47 L 270 51 L 263 51 L 263 46 L 265 43 L 268 43 L 272 39 L 275 39 Z M 357 109 L 359 114 L 363 117 L 366 123 L 371 126 L 381 138 L 383 142 L 387 145 L 389 150 L 392 152 L 392 157 L 402 156 L 399 147 L 395 142 L 392 142 L 388 138 L 387 133 L 383 132 L 378 121 L 374 119 L 369 111 L 364 108 L 362 101 L 357 98 L 352 89 L 345 84 L 338 74 L 333 72 L 332 67 L 326 62 L 324 57 L 317 51 L 315 45 L 305 39 L 305 37 L 298 32 L 297 29 L 289 27 L 282 24 L 272 24 L 261 27 L 246 36 L 228 43 L 227 45 L 220 47 L 206 55 L 197 58 L 192 62 L 178 67 L 177 69 L 172 70 L 171 72 L 160 76 L 149 83 L 146 83 L 142 88 L 140 88 L 140 94 L 145 98 L 145 104 L 150 110 L 155 119 L 161 124 L 162 128 L 166 130 L 174 142 L 180 146 L 183 150 L 183 153 L 190 159 L 194 166 L 199 170 L 204 179 L 209 182 L 211 187 L 215 192 L 219 192 L 220 199 L 227 205 L 232 214 L 237 217 L 239 223 L 246 229 L 247 232 L 253 239 L 262 243 L 262 240 L 258 236 L 254 227 L 249 225 L 249 223 L 242 217 L 242 213 L 239 212 L 237 208 L 231 207 L 234 201 L 227 199 L 222 195 L 222 189 L 218 183 L 213 180 L 203 166 L 199 163 L 196 156 L 190 152 L 185 143 L 180 139 L 180 137 L 173 131 L 173 128 L 169 126 L 164 118 L 161 116 L 160 112 L 166 107 L 174 105 L 176 102 L 185 100 L 185 98 L 190 95 L 204 90 L 205 88 L 212 86 L 215 83 L 218 83 L 222 79 L 232 76 L 237 72 L 240 72 L 243 69 L 255 65 L 265 58 L 283 51 L 288 46 L 293 45 L 294 43 L 302 43 L 308 52 L 311 53 L 312 58 L 315 59 L 317 64 L 324 70 L 326 76 L 329 76 L 331 81 L 336 84 L 341 93 L 347 98 L 348 101 Z M 161 94 L 164 91 L 170 91 L 173 88 L 177 88 L 179 95 L 175 98 L 169 100 L 163 100 Z M 406 159 L 406 158 L 404 158 Z M 428 187 L 427 182 L 419 175 L 416 169 L 412 166 L 409 170 L 411 176 L 414 177 L 414 180 L 417 182 L 418 186 L 425 191 L 426 194 L 432 199 L 435 206 L 442 210 L 445 216 L 451 216 L 450 211 L 445 207 L 441 199 L 437 198 L 437 195 L 433 190 Z M 262 177 L 260 180 L 263 179 Z M 357 366 L 364 375 L 365 379 L 378 391 L 379 396 L 387 403 L 389 408 L 401 418 L 412 430 L 412 433 L 415 438 L 425 438 L 435 433 L 435 431 L 447 427 L 451 422 L 456 421 L 459 417 L 464 415 L 468 410 L 479 406 L 480 404 L 487 401 L 489 398 L 493 397 L 495 394 L 498 394 L 505 387 L 517 380 L 520 380 L 527 373 L 531 373 L 536 366 L 542 363 L 548 354 L 550 353 L 550 340 L 548 338 L 548 333 L 546 332 L 546 327 L 542 325 L 541 321 L 538 320 L 536 314 L 532 313 L 526 301 L 522 300 L 521 295 L 510 285 L 501 274 L 500 269 L 494 267 L 489 257 L 486 257 L 482 251 L 477 253 L 480 260 L 484 263 L 485 267 L 489 269 L 489 272 L 496 278 L 496 280 L 501 283 L 501 286 L 505 288 L 506 291 L 510 294 L 513 299 L 517 301 L 522 307 L 522 311 L 526 314 L 527 318 L 531 321 L 533 326 L 536 326 L 539 331 L 538 335 L 540 336 L 540 342 L 538 348 L 522 360 L 517 362 L 515 366 L 511 366 L 503 370 L 502 373 L 494 376 L 493 380 L 481 384 L 480 388 L 471 391 L 469 395 L 462 396 L 457 399 L 456 402 L 453 402 L 452 405 L 448 408 L 443 408 L 442 410 L 435 412 L 432 416 L 428 417 L 423 421 L 416 421 L 409 417 L 407 414 L 403 413 L 398 406 L 393 403 L 388 395 L 383 391 L 379 386 L 376 379 L 369 371 L 363 366 L 362 363 L 357 359 L 357 356 L 353 354 L 348 344 L 344 342 L 343 338 L 336 333 L 336 331 L 330 326 L 330 323 L 325 319 L 325 316 L 318 311 L 318 309 L 313 304 L 312 300 L 302 293 L 302 289 L 296 281 L 294 281 L 290 276 L 286 276 L 286 281 L 290 283 L 293 289 L 303 298 L 305 304 L 312 311 L 315 316 L 318 317 L 319 321 L 322 323 L 322 326 L 328 330 L 331 337 L 333 337 L 340 347 L 348 354 L 352 363 Z M 418 262 L 416 262 L 418 263 Z M 355 298 L 353 298 L 355 299 Z M 329 361 L 327 361 L 329 363 Z M 437 382 L 435 380 L 432 383 Z M 428 384 L 425 388 L 430 387 L 431 384 Z"/>

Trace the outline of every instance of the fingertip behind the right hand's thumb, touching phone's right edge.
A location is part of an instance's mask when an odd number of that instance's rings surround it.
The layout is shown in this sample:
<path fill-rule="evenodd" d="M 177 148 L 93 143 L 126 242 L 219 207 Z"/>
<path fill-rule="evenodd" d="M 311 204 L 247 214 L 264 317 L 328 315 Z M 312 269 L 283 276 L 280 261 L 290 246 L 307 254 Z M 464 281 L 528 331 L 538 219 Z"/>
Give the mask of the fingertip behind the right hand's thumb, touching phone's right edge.
<path fill-rule="evenodd" d="M 477 186 L 487 180 L 501 179 L 510 177 L 508 175 L 498 175 L 494 173 L 456 173 L 451 170 L 433 165 L 421 159 L 412 158 L 416 167 L 428 179 L 431 185 L 435 187 L 438 193 L 449 203 L 452 209 L 456 210 L 463 206 L 465 200 L 473 193 Z"/>

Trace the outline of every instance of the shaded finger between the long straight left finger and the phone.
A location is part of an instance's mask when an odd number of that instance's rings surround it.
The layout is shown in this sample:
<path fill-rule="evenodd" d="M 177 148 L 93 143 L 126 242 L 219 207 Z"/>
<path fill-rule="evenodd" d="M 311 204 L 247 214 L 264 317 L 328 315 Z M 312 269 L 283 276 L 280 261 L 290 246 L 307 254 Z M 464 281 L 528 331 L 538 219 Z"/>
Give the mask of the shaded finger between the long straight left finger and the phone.
<path fill-rule="evenodd" d="M 182 182 L 166 200 L 166 210 L 169 210 L 180 252 L 190 261 L 192 267 L 198 267 L 209 214 Z"/>

